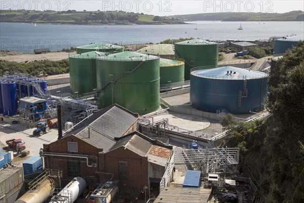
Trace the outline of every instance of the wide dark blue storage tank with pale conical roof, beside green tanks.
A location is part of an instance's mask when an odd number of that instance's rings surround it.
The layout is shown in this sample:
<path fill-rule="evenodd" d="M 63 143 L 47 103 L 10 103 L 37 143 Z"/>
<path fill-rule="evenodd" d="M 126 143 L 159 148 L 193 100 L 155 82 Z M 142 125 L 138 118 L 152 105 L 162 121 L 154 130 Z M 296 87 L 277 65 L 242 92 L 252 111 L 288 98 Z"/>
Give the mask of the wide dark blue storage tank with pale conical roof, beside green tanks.
<path fill-rule="evenodd" d="M 232 114 L 259 112 L 265 108 L 268 77 L 263 72 L 233 66 L 191 72 L 190 102 L 198 110 Z"/>

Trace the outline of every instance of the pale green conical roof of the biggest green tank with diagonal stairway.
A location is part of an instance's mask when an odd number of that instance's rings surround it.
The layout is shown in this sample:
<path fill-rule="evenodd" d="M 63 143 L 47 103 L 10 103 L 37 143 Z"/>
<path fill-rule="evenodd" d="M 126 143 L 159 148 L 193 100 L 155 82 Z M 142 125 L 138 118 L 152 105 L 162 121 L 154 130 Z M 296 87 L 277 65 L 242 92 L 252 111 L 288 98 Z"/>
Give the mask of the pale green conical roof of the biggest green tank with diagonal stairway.
<path fill-rule="evenodd" d="M 98 60 L 122 60 L 122 61 L 142 61 L 142 60 L 156 60 L 158 56 L 147 55 L 132 51 L 124 51 L 120 53 L 110 54 L 107 56 L 96 57 Z"/>

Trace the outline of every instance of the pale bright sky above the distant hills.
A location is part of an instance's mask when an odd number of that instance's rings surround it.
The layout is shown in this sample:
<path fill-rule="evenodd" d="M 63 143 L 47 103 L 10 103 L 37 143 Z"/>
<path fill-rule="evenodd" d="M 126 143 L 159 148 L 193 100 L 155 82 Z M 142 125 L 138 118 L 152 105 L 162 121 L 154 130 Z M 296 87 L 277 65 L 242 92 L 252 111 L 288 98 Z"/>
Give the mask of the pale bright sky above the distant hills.
<path fill-rule="evenodd" d="M 103 1 L 103 0 L 0 0 L 1 10 L 54 10 L 54 11 L 125 11 L 144 13 L 149 15 L 170 16 L 195 13 L 214 12 L 262 12 L 262 13 L 285 13 L 294 10 L 304 10 L 304 1 L 300 0 L 276 0 L 276 1 L 200 1 L 200 0 L 130 0 L 130 1 Z"/>

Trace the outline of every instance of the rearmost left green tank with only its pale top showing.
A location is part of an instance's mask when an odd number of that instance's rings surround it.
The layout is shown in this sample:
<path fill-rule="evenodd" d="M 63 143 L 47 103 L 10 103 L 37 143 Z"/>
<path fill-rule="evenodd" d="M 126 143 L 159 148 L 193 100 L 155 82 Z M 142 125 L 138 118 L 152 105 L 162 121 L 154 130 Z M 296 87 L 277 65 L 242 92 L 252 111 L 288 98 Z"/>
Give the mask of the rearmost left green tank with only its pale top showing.
<path fill-rule="evenodd" d="M 76 52 L 78 54 L 89 52 L 89 51 L 118 53 L 118 52 L 123 52 L 124 47 L 118 46 L 118 45 L 106 44 L 106 43 L 102 43 L 102 42 L 92 43 L 89 45 L 76 47 Z"/>

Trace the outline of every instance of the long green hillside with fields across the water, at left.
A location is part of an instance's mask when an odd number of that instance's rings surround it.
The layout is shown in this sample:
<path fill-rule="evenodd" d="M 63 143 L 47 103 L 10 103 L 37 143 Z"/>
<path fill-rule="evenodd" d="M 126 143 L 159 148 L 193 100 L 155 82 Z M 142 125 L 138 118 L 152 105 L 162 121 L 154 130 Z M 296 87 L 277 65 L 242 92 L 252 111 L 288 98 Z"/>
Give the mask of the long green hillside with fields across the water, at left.
<path fill-rule="evenodd" d="M 174 18 L 126 13 L 123 11 L 0 11 L 0 22 L 69 23 L 69 24 L 181 24 Z"/>

